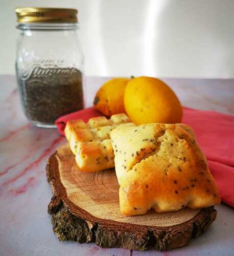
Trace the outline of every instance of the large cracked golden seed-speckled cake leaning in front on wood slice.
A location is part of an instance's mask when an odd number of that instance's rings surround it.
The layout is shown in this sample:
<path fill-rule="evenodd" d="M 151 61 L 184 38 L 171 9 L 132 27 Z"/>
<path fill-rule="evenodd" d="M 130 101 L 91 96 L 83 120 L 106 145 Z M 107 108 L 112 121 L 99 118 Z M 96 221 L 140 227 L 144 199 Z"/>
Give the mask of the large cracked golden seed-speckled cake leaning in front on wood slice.
<path fill-rule="evenodd" d="M 111 132 L 124 215 L 220 204 L 195 135 L 184 124 L 147 124 Z"/>

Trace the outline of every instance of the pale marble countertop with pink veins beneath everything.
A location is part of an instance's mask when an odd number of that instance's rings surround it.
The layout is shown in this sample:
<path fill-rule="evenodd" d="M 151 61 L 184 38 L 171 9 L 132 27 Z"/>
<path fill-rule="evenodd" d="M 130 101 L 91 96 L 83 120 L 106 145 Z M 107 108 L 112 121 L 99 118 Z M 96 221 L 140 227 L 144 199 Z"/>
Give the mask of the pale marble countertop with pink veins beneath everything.
<path fill-rule="evenodd" d="M 108 78 L 85 79 L 85 104 Z M 234 80 L 163 79 L 184 106 L 234 115 Z M 104 249 L 59 242 L 47 214 L 52 192 L 45 164 L 65 142 L 55 129 L 30 125 L 20 108 L 14 76 L 0 76 L 0 255 L 233 255 L 234 211 L 217 206 L 217 220 L 188 246 L 167 252 Z"/>

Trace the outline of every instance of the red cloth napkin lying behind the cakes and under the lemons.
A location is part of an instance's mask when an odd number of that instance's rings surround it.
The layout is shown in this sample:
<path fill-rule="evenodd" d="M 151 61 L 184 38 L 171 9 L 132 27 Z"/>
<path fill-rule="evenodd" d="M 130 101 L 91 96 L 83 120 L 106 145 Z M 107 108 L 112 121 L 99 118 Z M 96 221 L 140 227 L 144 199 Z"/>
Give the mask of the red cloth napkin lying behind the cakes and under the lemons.
<path fill-rule="evenodd" d="M 91 107 L 62 116 L 55 123 L 64 135 L 67 121 L 83 119 L 87 122 L 90 117 L 97 116 L 102 114 Z M 193 128 L 219 187 L 222 201 L 234 207 L 234 117 L 184 107 L 182 123 Z"/>

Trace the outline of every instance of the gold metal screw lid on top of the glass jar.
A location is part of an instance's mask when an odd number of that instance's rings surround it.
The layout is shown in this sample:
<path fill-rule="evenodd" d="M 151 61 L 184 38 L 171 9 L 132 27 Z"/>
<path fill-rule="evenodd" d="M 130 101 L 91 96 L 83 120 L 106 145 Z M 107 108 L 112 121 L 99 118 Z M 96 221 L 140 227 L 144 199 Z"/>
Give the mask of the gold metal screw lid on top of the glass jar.
<path fill-rule="evenodd" d="M 78 23 L 76 9 L 17 8 L 18 23 Z"/>

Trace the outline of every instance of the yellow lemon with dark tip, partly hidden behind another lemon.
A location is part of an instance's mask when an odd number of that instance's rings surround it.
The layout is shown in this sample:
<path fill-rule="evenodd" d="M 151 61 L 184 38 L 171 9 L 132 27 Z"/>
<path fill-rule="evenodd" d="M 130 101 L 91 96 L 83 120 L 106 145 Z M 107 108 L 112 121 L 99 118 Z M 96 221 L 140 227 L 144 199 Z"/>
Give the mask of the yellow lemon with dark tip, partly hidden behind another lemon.
<path fill-rule="evenodd" d="M 105 116 L 126 113 L 124 109 L 124 91 L 128 78 L 113 78 L 105 82 L 97 92 L 93 105 Z"/>

